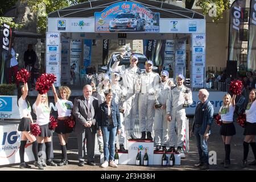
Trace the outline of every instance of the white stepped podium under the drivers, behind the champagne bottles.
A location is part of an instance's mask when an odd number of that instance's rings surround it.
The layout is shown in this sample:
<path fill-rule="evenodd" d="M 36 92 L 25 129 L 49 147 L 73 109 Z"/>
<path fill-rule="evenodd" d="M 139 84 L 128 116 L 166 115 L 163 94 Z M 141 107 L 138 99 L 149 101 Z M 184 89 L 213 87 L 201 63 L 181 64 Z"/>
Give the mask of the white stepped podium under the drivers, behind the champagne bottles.
<path fill-rule="evenodd" d="M 143 158 L 145 150 L 147 148 L 148 155 L 148 165 L 161 165 L 163 151 L 154 151 L 154 142 L 152 140 L 129 140 L 127 142 L 128 150 L 127 152 L 118 151 L 119 155 L 119 164 L 128 164 L 135 165 L 136 156 L 139 151 L 141 151 L 141 164 L 143 166 Z M 166 152 L 166 156 L 170 159 L 171 153 Z M 180 166 L 181 154 L 174 154 L 175 156 L 175 165 Z M 100 156 L 101 164 L 104 163 L 104 154 Z M 167 163 L 168 166 L 169 162 Z"/>

